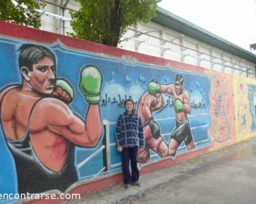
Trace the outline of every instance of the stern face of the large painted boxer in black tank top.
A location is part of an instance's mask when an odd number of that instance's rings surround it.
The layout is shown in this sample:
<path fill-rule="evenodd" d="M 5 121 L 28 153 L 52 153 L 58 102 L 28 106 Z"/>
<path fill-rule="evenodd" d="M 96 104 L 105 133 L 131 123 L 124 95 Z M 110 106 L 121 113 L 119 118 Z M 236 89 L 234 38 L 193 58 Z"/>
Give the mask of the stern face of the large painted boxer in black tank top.
<path fill-rule="evenodd" d="M 30 84 L 38 92 L 51 94 L 55 82 L 55 66 L 53 62 L 45 57 L 38 63 L 33 64 L 33 71 L 30 72 Z"/>

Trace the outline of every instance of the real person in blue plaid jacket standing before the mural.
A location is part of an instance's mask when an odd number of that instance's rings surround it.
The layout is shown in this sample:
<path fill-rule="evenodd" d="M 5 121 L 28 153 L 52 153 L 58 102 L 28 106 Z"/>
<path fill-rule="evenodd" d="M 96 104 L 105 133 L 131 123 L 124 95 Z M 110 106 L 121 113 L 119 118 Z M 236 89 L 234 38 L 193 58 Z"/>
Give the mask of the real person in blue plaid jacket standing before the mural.
<path fill-rule="evenodd" d="M 144 147 L 143 126 L 139 115 L 134 113 L 134 101 L 124 101 L 125 112 L 118 117 L 116 124 L 117 150 L 122 154 L 122 169 L 124 187 L 128 189 L 130 183 L 140 186 L 139 169 L 137 167 L 138 147 Z M 131 160 L 132 176 L 129 163 Z"/>

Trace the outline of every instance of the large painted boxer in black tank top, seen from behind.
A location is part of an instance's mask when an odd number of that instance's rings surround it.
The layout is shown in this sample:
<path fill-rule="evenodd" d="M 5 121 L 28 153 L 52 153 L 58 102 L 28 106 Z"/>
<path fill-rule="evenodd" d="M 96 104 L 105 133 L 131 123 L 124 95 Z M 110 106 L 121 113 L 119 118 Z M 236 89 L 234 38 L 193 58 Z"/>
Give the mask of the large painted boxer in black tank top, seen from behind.
<path fill-rule="evenodd" d="M 75 145 L 94 147 L 102 134 L 102 75 L 94 66 L 81 71 L 80 90 L 89 103 L 84 122 L 67 105 L 73 88 L 56 80 L 54 54 L 33 44 L 19 50 L 23 83 L 0 93 L 1 122 L 16 165 L 18 192 L 65 192 L 78 181 Z"/>

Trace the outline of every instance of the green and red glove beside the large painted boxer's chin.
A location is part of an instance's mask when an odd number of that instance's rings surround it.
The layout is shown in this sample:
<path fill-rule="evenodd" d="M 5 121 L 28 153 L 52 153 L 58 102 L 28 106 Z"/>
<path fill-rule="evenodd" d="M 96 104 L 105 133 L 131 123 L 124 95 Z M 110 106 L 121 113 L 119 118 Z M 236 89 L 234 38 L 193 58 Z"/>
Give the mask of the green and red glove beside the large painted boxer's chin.
<path fill-rule="evenodd" d="M 52 95 L 62 100 L 64 103 L 69 104 L 74 98 L 73 87 L 66 80 L 57 79 Z"/>

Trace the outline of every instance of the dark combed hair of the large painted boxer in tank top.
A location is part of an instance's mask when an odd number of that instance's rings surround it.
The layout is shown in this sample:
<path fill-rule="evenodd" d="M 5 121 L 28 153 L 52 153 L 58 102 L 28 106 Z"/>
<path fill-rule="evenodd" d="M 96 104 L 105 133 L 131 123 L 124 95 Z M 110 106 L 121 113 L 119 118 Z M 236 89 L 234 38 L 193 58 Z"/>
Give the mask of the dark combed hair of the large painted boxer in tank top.
<path fill-rule="evenodd" d="M 18 50 L 20 51 L 18 59 L 20 68 L 27 67 L 29 71 L 32 71 L 32 65 L 36 64 L 45 57 L 49 58 L 53 62 L 54 66 L 56 66 L 56 59 L 54 54 L 50 49 L 44 46 L 35 44 L 23 44 Z"/>

